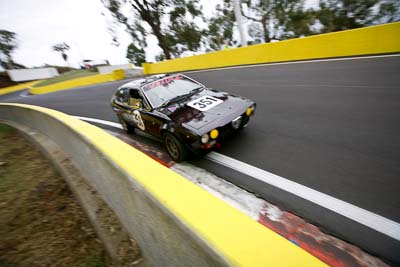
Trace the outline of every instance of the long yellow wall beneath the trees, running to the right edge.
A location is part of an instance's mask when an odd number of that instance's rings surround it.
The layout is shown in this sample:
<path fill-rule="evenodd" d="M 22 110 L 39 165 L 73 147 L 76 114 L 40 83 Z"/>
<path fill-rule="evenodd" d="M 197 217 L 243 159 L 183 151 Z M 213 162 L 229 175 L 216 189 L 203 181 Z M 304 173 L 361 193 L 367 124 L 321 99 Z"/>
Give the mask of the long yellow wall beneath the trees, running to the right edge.
<path fill-rule="evenodd" d="M 145 74 L 400 52 L 400 22 L 143 64 Z"/>

